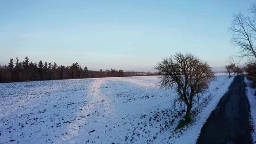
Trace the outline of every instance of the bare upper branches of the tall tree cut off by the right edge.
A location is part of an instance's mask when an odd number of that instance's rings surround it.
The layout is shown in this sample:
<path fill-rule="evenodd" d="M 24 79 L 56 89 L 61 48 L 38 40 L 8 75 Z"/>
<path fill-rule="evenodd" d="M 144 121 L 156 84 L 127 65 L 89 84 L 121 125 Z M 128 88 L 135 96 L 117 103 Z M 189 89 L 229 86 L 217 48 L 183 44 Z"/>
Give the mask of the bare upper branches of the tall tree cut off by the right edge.
<path fill-rule="evenodd" d="M 256 6 L 252 5 L 250 13 L 243 16 L 241 13 L 234 16 L 229 30 L 232 32 L 232 42 L 240 48 L 241 56 L 256 58 Z"/>

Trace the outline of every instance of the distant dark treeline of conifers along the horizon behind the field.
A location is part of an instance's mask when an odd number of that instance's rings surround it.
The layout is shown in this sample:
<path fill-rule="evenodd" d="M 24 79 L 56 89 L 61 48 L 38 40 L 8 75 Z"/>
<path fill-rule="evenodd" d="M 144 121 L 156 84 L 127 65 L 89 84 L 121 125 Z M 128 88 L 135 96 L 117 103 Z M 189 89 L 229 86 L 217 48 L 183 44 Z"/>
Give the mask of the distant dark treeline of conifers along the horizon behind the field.
<path fill-rule="evenodd" d="M 100 77 L 123 77 L 155 75 L 150 72 L 123 72 L 123 70 L 90 71 L 87 67 L 82 68 L 78 63 L 71 66 L 58 66 L 56 63 L 29 62 L 28 57 L 19 62 L 18 57 L 14 62 L 11 58 L 8 65 L 0 65 L 0 82 L 11 81 L 44 81 L 44 80 L 64 80 Z"/>

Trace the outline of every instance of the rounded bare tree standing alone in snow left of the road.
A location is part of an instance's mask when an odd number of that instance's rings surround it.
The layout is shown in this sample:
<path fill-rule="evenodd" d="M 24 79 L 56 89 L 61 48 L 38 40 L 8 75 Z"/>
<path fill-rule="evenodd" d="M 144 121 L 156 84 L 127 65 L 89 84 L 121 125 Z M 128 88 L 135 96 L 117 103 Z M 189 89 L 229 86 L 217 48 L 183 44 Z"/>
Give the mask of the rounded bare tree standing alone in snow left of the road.
<path fill-rule="evenodd" d="M 207 90 L 214 73 L 206 62 L 192 54 L 175 54 L 155 66 L 161 75 L 161 85 L 174 87 L 178 93 L 178 101 L 187 107 L 185 119 L 190 121 L 193 104 Z M 197 99 L 196 99 L 197 98 Z"/>

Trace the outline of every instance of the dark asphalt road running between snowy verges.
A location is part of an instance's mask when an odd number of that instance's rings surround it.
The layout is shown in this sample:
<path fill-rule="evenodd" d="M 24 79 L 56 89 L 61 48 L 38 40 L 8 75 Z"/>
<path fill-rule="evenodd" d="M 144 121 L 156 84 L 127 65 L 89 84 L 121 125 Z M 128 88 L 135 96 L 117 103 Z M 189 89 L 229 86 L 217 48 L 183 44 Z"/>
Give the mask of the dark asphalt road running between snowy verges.
<path fill-rule="evenodd" d="M 238 75 L 201 129 L 197 144 L 252 144 L 244 76 Z"/>

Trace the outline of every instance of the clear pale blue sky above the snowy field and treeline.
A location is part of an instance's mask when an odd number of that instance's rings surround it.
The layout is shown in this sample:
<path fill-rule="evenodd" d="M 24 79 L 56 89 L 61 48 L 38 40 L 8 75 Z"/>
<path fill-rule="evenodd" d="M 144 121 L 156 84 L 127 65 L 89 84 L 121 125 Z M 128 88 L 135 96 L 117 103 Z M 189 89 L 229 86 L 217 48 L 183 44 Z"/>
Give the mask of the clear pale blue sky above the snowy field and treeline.
<path fill-rule="evenodd" d="M 211 66 L 237 51 L 228 32 L 254 0 L 0 0 L 0 64 L 74 62 L 89 69 L 151 69 L 192 53 Z"/>

